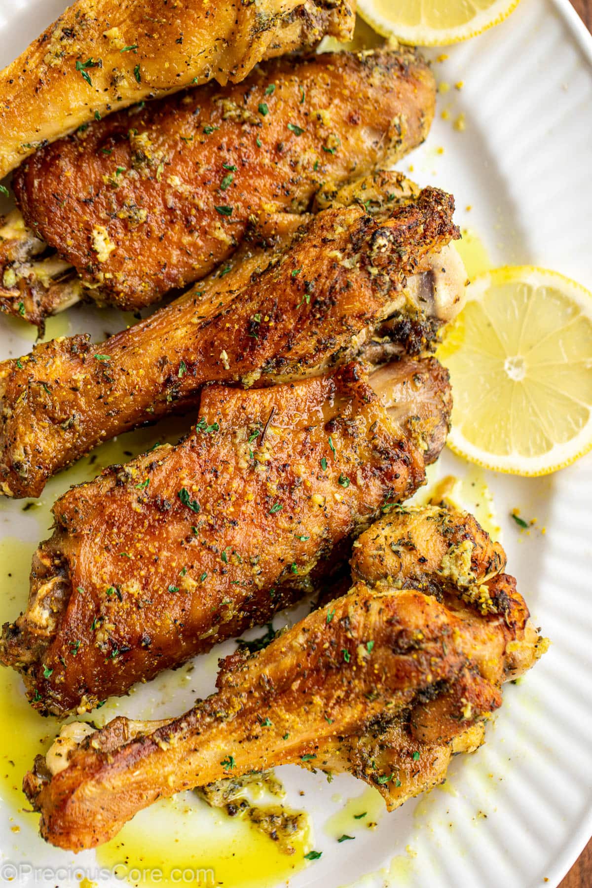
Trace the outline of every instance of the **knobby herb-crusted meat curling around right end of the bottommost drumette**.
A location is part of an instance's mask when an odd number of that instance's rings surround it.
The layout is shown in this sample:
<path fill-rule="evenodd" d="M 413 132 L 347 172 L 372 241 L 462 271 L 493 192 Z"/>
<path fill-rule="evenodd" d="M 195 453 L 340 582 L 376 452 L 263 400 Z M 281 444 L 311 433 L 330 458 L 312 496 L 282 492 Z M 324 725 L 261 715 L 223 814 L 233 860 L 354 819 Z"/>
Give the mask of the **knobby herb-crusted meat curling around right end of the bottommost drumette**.
<path fill-rule="evenodd" d="M 414 740 L 451 741 L 474 715 L 500 706 L 501 683 L 530 669 L 546 649 L 516 580 L 501 573 L 505 566 L 501 544 L 470 513 L 437 506 L 394 505 L 354 543 L 354 579 L 420 590 L 470 625 L 462 646 L 474 668 L 411 710 Z"/>

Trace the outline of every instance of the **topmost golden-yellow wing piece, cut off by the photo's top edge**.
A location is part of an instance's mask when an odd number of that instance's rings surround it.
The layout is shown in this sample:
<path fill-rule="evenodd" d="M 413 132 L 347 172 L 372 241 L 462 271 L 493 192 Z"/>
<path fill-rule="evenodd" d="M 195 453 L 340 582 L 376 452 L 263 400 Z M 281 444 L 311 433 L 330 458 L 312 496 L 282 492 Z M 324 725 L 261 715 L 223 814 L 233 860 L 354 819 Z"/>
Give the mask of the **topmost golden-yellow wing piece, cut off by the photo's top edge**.
<path fill-rule="evenodd" d="M 326 34 L 347 40 L 353 12 L 347 0 L 76 0 L 0 72 L 0 178 L 114 109 L 210 78 L 237 83 Z"/>

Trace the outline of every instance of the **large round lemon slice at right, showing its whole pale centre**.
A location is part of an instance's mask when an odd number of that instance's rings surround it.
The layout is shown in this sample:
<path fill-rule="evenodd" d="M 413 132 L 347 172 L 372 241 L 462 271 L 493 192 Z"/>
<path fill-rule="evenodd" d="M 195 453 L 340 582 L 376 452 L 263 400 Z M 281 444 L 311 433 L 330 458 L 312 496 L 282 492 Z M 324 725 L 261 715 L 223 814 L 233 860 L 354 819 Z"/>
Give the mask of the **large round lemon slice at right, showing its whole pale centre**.
<path fill-rule="evenodd" d="M 481 274 L 438 358 L 448 445 L 472 463 L 546 475 L 592 448 L 592 293 L 532 266 Z"/>

